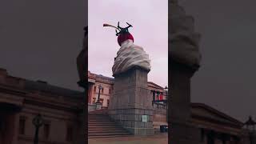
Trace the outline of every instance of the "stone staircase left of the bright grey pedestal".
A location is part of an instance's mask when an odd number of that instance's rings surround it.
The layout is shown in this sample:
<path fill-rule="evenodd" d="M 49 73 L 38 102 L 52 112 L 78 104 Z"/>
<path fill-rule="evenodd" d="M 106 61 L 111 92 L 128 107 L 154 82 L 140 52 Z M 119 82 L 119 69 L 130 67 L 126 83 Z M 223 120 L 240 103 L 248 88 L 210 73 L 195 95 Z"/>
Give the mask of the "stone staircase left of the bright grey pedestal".
<path fill-rule="evenodd" d="M 107 110 L 94 110 L 88 114 L 88 138 L 130 136 L 131 134 L 112 122 Z"/>

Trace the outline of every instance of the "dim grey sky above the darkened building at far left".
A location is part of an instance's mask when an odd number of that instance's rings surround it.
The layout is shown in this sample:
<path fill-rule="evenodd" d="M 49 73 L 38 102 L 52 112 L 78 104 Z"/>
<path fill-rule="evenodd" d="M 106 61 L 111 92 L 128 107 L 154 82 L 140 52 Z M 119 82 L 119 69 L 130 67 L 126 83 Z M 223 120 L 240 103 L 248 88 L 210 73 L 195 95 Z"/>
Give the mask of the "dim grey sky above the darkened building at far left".
<path fill-rule="evenodd" d="M 76 57 L 82 50 L 85 3 L 0 1 L 0 67 L 16 77 L 79 89 Z"/>

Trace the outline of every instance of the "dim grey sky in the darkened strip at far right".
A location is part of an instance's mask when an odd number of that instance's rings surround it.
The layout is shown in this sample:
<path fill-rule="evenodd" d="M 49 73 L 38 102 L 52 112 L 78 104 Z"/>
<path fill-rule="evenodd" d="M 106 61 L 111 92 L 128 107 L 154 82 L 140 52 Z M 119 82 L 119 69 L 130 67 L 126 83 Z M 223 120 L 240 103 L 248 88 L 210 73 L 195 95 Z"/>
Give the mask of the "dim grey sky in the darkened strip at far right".
<path fill-rule="evenodd" d="M 180 1 L 193 15 L 202 67 L 192 78 L 192 101 L 204 102 L 244 122 L 256 118 L 255 1 Z"/>

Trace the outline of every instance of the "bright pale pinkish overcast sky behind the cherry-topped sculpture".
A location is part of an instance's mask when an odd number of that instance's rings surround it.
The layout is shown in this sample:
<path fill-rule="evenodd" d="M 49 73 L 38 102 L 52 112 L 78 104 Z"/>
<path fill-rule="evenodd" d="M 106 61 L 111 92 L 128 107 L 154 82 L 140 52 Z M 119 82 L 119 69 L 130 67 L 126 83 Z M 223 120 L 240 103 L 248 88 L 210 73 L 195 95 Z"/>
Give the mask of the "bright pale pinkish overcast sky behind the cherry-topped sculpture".
<path fill-rule="evenodd" d="M 168 85 L 168 5 L 167 0 L 89 0 L 89 70 L 112 77 L 118 46 L 115 31 L 103 27 L 109 23 L 134 27 L 130 33 L 134 44 L 150 55 L 152 69 L 148 79 L 160 86 Z"/>

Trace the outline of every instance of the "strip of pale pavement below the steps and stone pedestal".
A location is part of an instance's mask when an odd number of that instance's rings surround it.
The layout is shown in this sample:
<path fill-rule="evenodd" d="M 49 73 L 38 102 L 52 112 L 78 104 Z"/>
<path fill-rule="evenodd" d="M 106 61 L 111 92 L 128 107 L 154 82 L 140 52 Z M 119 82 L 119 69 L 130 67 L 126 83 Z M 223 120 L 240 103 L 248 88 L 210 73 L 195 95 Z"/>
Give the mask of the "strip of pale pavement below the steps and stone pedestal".
<path fill-rule="evenodd" d="M 88 144 L 168 144 L 168 134 L 153 136 L 124 136 L 115 138 L 89 138 Z"/>

